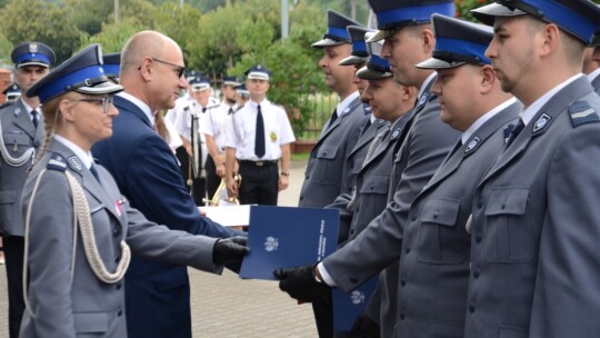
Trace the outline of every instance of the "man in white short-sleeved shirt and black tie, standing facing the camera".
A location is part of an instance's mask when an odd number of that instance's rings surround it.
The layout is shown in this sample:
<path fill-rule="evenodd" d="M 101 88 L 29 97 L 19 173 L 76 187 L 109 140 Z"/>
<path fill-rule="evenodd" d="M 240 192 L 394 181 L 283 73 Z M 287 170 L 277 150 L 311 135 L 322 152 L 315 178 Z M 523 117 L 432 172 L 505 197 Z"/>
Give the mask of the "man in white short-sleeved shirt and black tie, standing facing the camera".
<path fill-rule="evenodd" d="M 289 185 L 290 143 L 296 138 L 286 110 L 267 100 L 270 71 L 257 64 L 246 76 L 250 100 L 230 116 L 227 129 L 227 189 L 243 205 L 277 206 L 278 192 Z M 233 179 L 236 160 L 242 177 L 239 187 Z"/>

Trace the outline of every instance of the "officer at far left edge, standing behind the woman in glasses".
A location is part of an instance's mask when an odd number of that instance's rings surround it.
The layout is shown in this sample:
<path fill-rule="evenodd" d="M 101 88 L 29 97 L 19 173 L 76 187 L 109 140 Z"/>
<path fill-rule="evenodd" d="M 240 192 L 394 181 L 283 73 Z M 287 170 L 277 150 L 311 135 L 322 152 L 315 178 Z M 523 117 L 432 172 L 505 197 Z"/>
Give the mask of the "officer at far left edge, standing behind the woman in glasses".
<path fill-rule="evenodd" d="M 24 42 L 11 53 L 14 62 L 14 81 L 23 91 L 42 79 L 52 63 L 54 52 L 40 42 Z M 23 315 L 23 226 L 19 198 L 27 171 L 43 141 L 44 125 L 37 97 L 24 97 L 0 107 L 0 233 L 7 265 L 9 289 L 9 331 L 18 337 Z"/>

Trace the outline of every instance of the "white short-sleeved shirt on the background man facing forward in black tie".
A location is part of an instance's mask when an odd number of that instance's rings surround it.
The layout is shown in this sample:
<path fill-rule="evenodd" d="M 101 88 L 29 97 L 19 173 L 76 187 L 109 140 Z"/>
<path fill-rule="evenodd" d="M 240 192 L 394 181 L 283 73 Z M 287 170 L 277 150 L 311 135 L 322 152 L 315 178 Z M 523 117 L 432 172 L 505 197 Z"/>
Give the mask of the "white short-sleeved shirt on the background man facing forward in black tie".
<path fill-rule="evenodd" d="M 248 101 L 242 109 L 231 115 L 227 128 L 226 147 L 236 149 L 236 157 L 240 160 L 279 160 L 281 146 L 296 141 L 293 131 L 283 108 L 263 100 L 260 103 L 264 121 L 266 153 L 262 158 L 254 155 L 254 138 L 258 103 Z"/>

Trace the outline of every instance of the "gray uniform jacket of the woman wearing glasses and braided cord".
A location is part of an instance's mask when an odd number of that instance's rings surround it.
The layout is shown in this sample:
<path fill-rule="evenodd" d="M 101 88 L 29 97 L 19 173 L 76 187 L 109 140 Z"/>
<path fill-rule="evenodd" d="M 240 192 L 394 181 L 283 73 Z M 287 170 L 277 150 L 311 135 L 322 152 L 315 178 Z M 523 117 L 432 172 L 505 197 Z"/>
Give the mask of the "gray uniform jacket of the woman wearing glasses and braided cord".
<path fill-rule="evenodd" d="M 50 159 L 54 165 L 48 165 Z M 58 165 L 57 165 L 58 163 Z M 30 201 L 40 171 L 49 168 Z M 52 169 L 50 169 L 52 167 Z M 60 169 L 62 167 L 62 170 Z M 96 165 L 101 186 L 82 168 L 72 150 L 52 140 L 48 153 L 33 167 L 22 197 L 23 216 L 32 202 L 29 229 L 29 302 L 22 338 L 127 337 L 123 280 L 104 284 L 91 271 L 80 235 L 73 257 L 73 205 L 64 170 L 82 186 L 90 207 L 96 241 L 102 261 L 114 271 L 121 240 L 132 254 L 170 264 L 190 265 L 220 272 L 212 264 L 217 239 L 192 236 L 148 221 L 120 193 L 110 173 Z M 73 262 L 73 265 L 71 265 Z M 71 272 L 73 278 L 71 280 Z"/>

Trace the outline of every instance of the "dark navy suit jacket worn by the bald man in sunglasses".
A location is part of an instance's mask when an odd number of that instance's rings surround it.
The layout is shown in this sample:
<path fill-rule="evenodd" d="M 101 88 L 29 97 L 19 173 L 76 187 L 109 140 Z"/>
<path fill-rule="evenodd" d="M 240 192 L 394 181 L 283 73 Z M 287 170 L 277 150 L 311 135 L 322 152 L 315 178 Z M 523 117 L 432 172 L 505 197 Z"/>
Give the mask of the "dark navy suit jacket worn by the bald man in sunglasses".
<path fill-rule="evenodd" d="M 188 193 L 169 146 L 136 105 L 114 97 L 119 116 L 111 138 L 92 153 L 121 192 L 149 220 L 190 233 L 224 238 L 236 232 L 201 217 Z M 133 256 L 126 275 L 129 338 L 191 337 L 186 267 Z"/>

